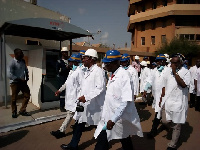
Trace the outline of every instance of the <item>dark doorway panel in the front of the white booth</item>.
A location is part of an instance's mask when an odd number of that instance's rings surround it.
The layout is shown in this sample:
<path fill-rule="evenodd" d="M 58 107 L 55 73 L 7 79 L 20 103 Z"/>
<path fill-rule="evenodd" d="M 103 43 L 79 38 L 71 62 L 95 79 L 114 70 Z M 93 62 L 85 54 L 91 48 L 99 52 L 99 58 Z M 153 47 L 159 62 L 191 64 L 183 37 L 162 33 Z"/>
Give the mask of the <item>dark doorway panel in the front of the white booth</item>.
<path fill-rule="evenodd" d="M 55 92 L 60 88 L 57 74 L 56 74 L 56 63 L 59 59 L 59 51 L 46 50 L 46 74 L 42 75 L 42 88 L 41 88 L 41 100 L 42 102 L 58 101 L 59 96 L 55 96 Z"/>

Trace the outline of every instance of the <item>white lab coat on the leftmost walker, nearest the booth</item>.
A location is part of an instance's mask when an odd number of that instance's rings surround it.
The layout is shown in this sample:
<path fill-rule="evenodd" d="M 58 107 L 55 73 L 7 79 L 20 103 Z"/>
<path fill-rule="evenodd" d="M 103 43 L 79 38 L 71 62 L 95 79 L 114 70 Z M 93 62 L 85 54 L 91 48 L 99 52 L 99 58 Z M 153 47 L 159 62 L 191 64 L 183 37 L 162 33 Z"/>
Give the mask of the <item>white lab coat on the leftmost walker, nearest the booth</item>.
<path fill-rule="evenodd" d="M 71 70 L 65 84 L 59 89 L 59 91 L 65 90 L 65 109 L 75 112 L 77 106 L 77 99 L 80 97 L 81 83 L 83 79 L 83 71 L 80 67 L 77 67 L 75 71 Z"/>

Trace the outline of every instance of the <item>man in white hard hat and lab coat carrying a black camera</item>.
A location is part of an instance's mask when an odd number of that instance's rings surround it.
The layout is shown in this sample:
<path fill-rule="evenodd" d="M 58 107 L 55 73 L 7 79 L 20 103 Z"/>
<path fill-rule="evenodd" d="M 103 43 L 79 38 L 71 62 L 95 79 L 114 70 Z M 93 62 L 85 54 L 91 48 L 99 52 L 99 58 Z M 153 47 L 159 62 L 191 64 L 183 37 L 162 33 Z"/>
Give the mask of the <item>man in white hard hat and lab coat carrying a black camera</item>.
<path fill-rule="evenodd" d="M 94 49 L 88 49 L 83 56 L 83 64 L 87 67 L 82 80 L 79 102 L 83 104 L 83 112 L 76 112 L 77 120 L 73 128 L 72 140 L 69 144 L 62 144 L 63 150 L 76 150 L 85 124 L 97 125 L 100 121 L 103 103 L 105 100 L 105 75 L 97 66 L 98 55 Z"/>

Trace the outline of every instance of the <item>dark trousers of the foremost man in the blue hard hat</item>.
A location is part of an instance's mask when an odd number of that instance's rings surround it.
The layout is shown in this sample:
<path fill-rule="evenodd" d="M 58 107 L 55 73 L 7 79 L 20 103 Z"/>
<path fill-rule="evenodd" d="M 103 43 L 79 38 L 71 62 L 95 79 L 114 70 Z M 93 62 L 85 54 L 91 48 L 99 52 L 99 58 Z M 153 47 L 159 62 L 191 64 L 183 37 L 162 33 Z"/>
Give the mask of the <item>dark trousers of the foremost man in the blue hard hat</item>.
<path fill-rule="evenodd" d="M 133 150 L 133 144 L 131 137 L 120 139 L 123 150 Z M 95 150 L 108 150 L 109 144 L 107 140 L 107 133 L 105 130 L 102 130 L 99 136 L 97 137 L 97 143 L 95 145 Z"/>

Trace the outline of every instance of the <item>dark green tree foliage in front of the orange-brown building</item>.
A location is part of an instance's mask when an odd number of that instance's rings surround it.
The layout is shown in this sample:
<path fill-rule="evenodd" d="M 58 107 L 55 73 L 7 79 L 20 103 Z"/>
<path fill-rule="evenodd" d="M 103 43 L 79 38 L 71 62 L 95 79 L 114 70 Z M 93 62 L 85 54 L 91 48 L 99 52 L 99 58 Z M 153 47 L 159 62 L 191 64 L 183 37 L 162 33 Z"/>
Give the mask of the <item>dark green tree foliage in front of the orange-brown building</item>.
<path fill-rule="evenodd" d="M 192 58 L 200 53 L 200 45 L 193 41 L 174 38 L 156 49 L 156 55 L 165 53 L 169 55 L 181 53 L 186 58 Z"/>

